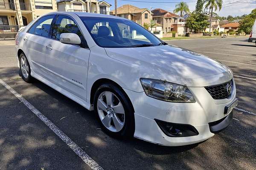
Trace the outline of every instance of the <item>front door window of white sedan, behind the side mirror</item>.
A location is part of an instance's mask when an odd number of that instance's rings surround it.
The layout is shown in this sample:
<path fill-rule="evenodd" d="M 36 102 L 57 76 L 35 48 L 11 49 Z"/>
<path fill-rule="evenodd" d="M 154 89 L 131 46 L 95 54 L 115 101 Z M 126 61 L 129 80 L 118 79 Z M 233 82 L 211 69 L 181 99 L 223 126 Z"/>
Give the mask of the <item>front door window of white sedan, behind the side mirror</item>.
<path fill-rule="evenodd" d="M 80 38 L 82 36 L 79 27 L 72 18 L 65 15 L 59 15 L 53 28 L 52 38 L 55 40 L 60 40 L 60 35 L 62 33 L 74 33 Z"/>

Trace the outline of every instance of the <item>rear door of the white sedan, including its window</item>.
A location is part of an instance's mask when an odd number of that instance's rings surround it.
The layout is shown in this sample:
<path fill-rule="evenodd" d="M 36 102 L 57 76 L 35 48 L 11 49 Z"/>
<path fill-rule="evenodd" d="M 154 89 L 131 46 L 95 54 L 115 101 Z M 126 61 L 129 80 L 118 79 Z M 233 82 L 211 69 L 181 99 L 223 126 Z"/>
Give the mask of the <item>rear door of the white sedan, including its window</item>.
<path fill-rule="evenodd" d="M 49 39 L 49 32 L 55 15 L 48 15 L 40 18 L 29 31 L 23 36 L 26 55 L 31 69 L 36 74 L 45 75 L 45 52 L 46 41 Z"/>

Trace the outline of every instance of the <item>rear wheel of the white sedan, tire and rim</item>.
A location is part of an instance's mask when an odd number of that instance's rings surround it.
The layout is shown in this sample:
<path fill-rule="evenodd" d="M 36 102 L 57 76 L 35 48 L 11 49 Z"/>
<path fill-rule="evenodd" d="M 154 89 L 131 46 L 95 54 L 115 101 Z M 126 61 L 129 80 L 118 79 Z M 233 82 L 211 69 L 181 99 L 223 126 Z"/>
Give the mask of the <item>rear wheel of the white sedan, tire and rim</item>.
<path fill-rule="evenodd" d="M 25 82 L 32 82 L 29 61 L 24 53 L 20 54 L 20 76 Z"/>

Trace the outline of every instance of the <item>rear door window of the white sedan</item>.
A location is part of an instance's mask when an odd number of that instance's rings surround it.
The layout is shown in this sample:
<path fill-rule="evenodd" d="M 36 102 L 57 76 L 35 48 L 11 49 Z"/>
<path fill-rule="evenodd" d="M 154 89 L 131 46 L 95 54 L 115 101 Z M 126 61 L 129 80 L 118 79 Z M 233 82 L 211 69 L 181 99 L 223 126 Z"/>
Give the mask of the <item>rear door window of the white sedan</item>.
<path fill-rule="evenodd" d="M 51 29 L 52 20 L 55 16 L 48 15 L 40 18 L 30 29 L 30 34 L 41 35 L 44 37 L 49 37 L 49 32 Z"/>

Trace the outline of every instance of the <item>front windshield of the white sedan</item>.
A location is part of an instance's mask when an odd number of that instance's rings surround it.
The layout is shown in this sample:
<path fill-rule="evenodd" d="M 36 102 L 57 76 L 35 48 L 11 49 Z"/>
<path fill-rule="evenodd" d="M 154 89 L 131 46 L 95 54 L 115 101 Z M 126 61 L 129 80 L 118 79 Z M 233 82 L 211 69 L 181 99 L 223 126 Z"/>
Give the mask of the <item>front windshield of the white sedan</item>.
<path fill-rule="evenodd" d="M 105 48 L 148 47 L 162 45 L 149 31 L 126 19 L 80 17 L 97 45 Z"/>

